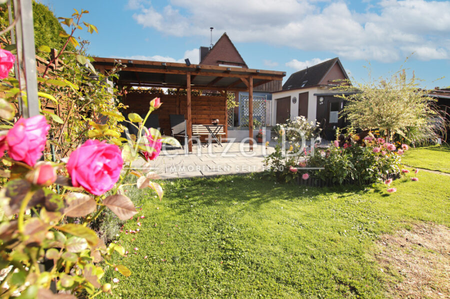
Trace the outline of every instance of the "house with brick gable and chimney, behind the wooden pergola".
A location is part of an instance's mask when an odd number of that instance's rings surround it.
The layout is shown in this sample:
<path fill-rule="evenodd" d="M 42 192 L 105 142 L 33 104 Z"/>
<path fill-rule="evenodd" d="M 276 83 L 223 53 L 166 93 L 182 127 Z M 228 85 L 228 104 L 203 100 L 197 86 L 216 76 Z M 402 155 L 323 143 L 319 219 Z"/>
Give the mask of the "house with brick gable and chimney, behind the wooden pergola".
<path fill-rule="evenodd" d="M 237 51 L 231 39 L 225 33 L 209 47 L 200 47 L 199 65 L 218 65 L 224 67 L 238 67 L 246 69 L 247 64 Z M 236 80 L 235 84 L 240 81 Z M 232 90 L 233 84 L 229 85 Z M 271 92 L 281 89 L 281 81 L 261 82 L 260 85 L 253 86 L 253 119 L 254 127 L 270 125 L 271 118 Z M 239 106 L 228 113 L 229 127 L 248 126 L 248 92 L 234 92 L 235 100 Z"/>

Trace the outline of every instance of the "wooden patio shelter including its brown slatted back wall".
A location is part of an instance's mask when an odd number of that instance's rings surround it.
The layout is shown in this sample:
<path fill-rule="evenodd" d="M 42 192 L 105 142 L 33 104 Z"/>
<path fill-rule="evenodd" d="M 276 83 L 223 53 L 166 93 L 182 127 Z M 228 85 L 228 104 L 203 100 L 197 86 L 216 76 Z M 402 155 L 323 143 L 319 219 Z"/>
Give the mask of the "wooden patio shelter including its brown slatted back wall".
<path fill-rule="evenodd" d="M 210 124 L 212 118 L 218 118 L 221 124 L 227 121 L 227 91 L 247 91 L 249 94 L 249 137 L 253 136 L 253 88 L 273 80 L 282 80 L 285 75 L 281 71 L 259 70 L 216 65 L 127 60 L 95 57 L 94 67 L 99 71 L 110 70 L 121 63 L 118 79 L 115 84 L 121 88 L 129 88 L 125 96 L 125 104 L 130 112 L 145 112 L 148 102 L 154 97 L 149 92 L 131 91 L 131 87 L 161 87 L 185 89 L 186 94 L 158 95 L 163 102 L 159 113 L 160 126 L 167 132 L 169 114 L 184 114 L 189 136 L 188 149 L 192 151 L 192 124 Z M 220 96 L 193 96 L 192 89 L 216 91 Z M 225 129 L 226 130 L 226 129 Z M 226 135 L 225 135 L 226 137 Z M 253 143 L 250 140 L 250 150 Z"/>

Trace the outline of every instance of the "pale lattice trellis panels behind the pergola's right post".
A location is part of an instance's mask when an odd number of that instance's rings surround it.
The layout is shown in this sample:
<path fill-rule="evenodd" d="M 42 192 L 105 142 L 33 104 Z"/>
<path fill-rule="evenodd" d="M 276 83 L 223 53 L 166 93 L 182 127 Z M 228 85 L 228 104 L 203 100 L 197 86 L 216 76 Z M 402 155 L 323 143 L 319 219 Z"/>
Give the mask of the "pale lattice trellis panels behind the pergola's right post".
<path fill-rule="evenodd" d="M 267 111 L 267 96 L 253 95 L 253 126 L 265 127 Z M 239 97 L 239 125 L 248 127 L 248 95 Z"/>

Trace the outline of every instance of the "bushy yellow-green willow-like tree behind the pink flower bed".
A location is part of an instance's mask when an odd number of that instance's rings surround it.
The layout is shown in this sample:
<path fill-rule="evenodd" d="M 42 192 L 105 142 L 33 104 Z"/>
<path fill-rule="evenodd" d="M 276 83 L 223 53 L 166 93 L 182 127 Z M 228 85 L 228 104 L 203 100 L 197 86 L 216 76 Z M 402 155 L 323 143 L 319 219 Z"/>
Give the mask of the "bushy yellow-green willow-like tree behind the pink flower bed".
<path fill-rule="evenodd" d="M 418 88 L 415 76 L 408 79 L 403 70 L 390 78 L 379 78 L 368 83 L 348 84 L 337 88 L 356 91 L 341 95 L 346 101 L 343 116 L 350 122 L 351 129 L 379 129 L 387 140 L 397 133 L 410 142 L 434 138 L 442 125 L 442 117 L 435 109 L 434 99 L 426 96 L 427 91 Z"/>

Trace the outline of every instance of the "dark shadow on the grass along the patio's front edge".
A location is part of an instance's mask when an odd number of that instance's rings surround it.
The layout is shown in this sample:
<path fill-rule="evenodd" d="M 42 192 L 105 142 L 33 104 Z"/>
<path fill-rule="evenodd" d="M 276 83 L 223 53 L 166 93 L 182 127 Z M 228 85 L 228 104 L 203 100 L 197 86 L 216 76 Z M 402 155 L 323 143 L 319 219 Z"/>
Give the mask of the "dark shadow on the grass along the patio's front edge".
<path fill-rule="evenodd" d="M 205 207 L 242 204 L 242 209 L 257 210 L 274 199 L 322 201 L 331 194 L 348 197 L 364 190 L 364 187 L 355 185 L 316 188 L 288 183 L 275 184 L 273 181 L 261 179 L 259 175 L 224 175 L 173 182 L 175 189 L 183 188 L 185 191 L 179 195 L 167 193 L 170 194 L 167 196 L 173 200 L 172 204 L 176 206 L 178 215 L 189 213 L 193 202 L 196 206 Z"/>

